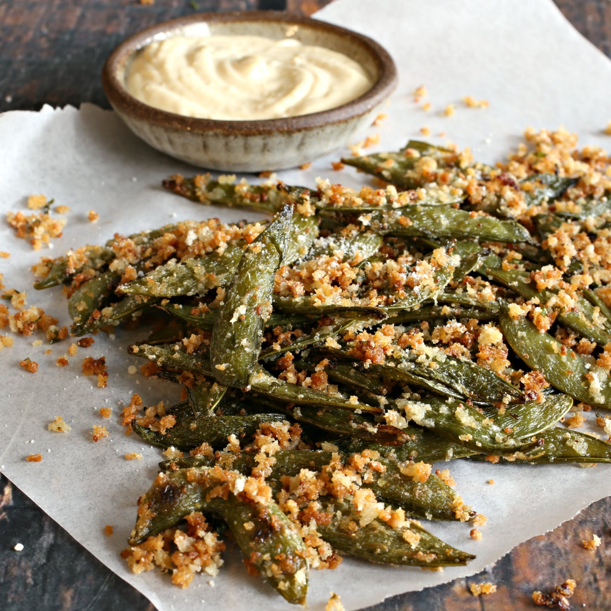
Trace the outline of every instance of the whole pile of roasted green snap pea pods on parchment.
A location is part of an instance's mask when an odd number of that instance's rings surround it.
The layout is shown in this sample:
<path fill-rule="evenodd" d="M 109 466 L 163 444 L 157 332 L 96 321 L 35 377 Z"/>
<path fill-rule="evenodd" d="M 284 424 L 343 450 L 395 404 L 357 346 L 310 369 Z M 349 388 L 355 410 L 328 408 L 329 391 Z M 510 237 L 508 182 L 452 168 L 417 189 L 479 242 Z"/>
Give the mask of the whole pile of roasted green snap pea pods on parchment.
<path fill-rule="evenodd" d="M 418 155 L 406 155 L 408 149 Z M 415 161 L 423 157 L 444 170 L 444 188 L 419 174 Z M 551 211 L 535 216 L 527 227 L 510 218 L 502 194 L 490 199 L 484 211 L 475 210 L 466 192 L 456 186 L 468 169 L 452 152 L 425 142 L 411 141 L 399 152 L 343 161 L 408 195 L 374 203 L 354 197 L 329 200 L 320 188 L 172 177 L 164 186 L 194 202 L 251 208 L 273 219 L 263 221 L 265 229 L 251 243 L 230 241 L 222 252 L 196 257 L 156 251 L 156 240 L 180 231 L 180 224 L 128 236 L 125 239 L 136 246 L 150 247 L 139 251 L 140 258 L 132 263 L 137 277 L 126 282 L 113 265 L 115 236 L 104 247 L 87 247 L 81 267 L 75 268 L 69 257 L 49 262 L 48 274 L 35 285 L 69 285 L 71 332 L 77 336 L 142 313 L 153 319 L 161 316 L 162 323 L 147 342 L 131 345 L 129 352 L 154 362 L 156 373 L 169 381 L 188 381 L 186 398 L 167 409 L 175 419 L 167 430 L 137 419 L 131 426 L 161 448 L 186 452 L 208 444 L 215 451 L 160 463 L 161 475 L 141 499 L 130 544 L 176 527 L 192 511 L 214 514 L 229 526 L 262 576 L 294 603 L 305 601 L 309 568 L 304 543 L 290 518 L 274 500 L 257 504 L 240 494 L 210 494 L 220 483 L 235 480 L 236 474 L 251 474 L 255 466 L 252 453 L 237 452 L 227 468 L 222 450 L 232 435 L 244 447 L 263 423 L 288 421 L 303 427 L 310 449 L 274 454 L 266 478 L 274 492 L 282 489 L 283 476 L 294 477 L 301 469 L 320 472 L 331 463 L 333 452 L 318 449 L 321 443 L 332 444 L 343 461 L 354 453 L 376 452 L 381 470 L 371 472 L 362 486 L 412 518 L 433 520 L 464 519 L 456 511 L 459 497 L 434 473 L 425 481 L 405 475 L 406 464 L 458 458 L 503 459 L 514 465 L 611 462 L 609 444 L 560 425 L 576 403 L 611 408 L 611 381 L 599 376 L 593 387 L 587 357 L 567 350 L 554 329 L 541 332 L 527 316 L 511 312 L 514 302 L 553 301 L 557 291 L 538 289 L 532 273 L 550 265 L 542 244 L 566 214 L 549 207 Z M 477 164 L 471 175 L 485 180 L 489 172 L 490 167 Z M 527 180 L 531 187 L 524 197 L 529 206 L 549 205 L 577 181 L 546 174 Z M 519 191 L 521 185 L 513 181 L 511 188 Z M 585 202 L 581 218 L 608 209 L 606 198 Z M 413 255 L 417 269 L 440 249 L 450 263 L 434 270 L 433 282 L 404 287 L 382 305 L 363 298 L 371 290 L 368 266 L 407 253 Z M 521 254 L 519 268 L 503 264 L 503 252 L 509 250 Z M 313 293 L 286 296 L 274 291 L 281 268 L 325 255 L 356 270 L 354 299 L 326 303 Z M 566 278 L 579 271 L 579 262 L 571 262 Z M 491 299 L 478 299 L 461 289 L 473 279 L 495 288 Z M 222 300 L 213 301 L 219 288 L 224 291 Z M 493 324 L 510 348 L 509 369 L 538 371 L 549 384 L 535 395 L 525 392 L 509 370 L 496 373 L 477 359 L 439 351 L 431 332 L 423 336 L 421 349 L 393 349 L 381 360 L 362 358 L 351 344 L 360 332 L 373 335 L 384 325 L 409 333 L 424 323 L 432 331 L 448 320 Z M 596 344 L 595 352 L 611 341 L 611 312 L 590 289 L 580 291 L 573 309 L 557 312 L 554 324 Z M 299 334 L 274 342 L 270 333 L 278 329 L 297 329 Z M 181 341 L 193 334 L 205 338 L 194 349 Z M 315 373 L 323 362 L 336 390 L 279 377 L 279 359 L 287 354 L 300 371 Z M 403 424 L 387 417 L 391 411 L 407 415 Z M 349 499 L 326 496 L 322 505 L 332 517 L 318 525 L 318 534 L 339 552 L 431 568 L 464 565 L 474 558 L 445 544 L 420 522 L 408 522 L 406 527 L 419 535 L 412 546 L 403 530 L 380 519 L 348 530 L 346 518 L 357 519 Z M 244 529 L 247 522 L 255 527 Z M 290 562 L 283 563 L 280 572 L 271 570 L 280 554 Z"/>

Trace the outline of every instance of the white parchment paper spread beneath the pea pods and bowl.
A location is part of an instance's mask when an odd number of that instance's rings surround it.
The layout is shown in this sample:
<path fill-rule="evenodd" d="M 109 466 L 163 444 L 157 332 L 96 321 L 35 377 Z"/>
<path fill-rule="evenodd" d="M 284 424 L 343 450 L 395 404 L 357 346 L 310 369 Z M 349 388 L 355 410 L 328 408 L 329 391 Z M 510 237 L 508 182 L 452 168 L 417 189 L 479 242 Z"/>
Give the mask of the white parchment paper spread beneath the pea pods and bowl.
<path fill-rule="evenodd" d="M 389 119 L 379 132 L 378 150 L 393 150 L 408 137 L 418 137 L 423 125 L 433 141 L 446 138 L 470 145 L 482 161 L 494 161 L 514 147 L 523 128 L 557 128 L 564 124 L 577 131 L 581 144 L 609 145 L 602 130 L 611 119 L 611 63 L 573 30 L 548 0 L 338 0 L 318 13 L 321 19 L 364 32 L 379 40 L 397 61 L 401 84 L 392 98 Z M 412 99 L 415 87 L 425 84 L 433 109 L 425 112 Z M 489 100 L 488 109 L 469 109 L 465 95 Z M 441 115 L 456 103 L 453 117 Z M 439 137 L 443 131 L 447 136 Z M 36 292 L 31 288 L 30 266 L 41 254 L 59 255 L 68 247 L 103 243 L 114 232 L 158 227 L 173 219 L 225 220 L 254 213 L 198 207 L 163 192 L 159 183 L 174 172 L 192 171 L 154 152 L 138 141 L 112 112 L 84 105 L 42 112 L 9 112 L 0 117 L 0 212 L 25 210 L 28 194 L 43 193 L 56 204 L 68 205 L 64 236 L 51 251 L 34 252 L 0 224 L 0 249 L 9 259 L 0 260 L 7 287 L 28 291 L 29 304 L 68 323 L 60 288 Z M 376 150 L 376 149 L 370 149 Z M 317 175 L 334 181 L 359 184 L 345 169 L 332 172 L 330 161 L 320 159 L 307 171 L 282 172 L 288 183 L 313 185 Z M 100 214 L 90 224 L 88 210 Z M 0 331 L 1 332 L 1 331 Z M 128 365 L 142 361 L 125 354 L 125 346 L 145 331 L 117 330 L 115 338 L 95 337 L 89 349 L 79 349 L 65 368 L 55 360 L 68 348 L 63 342 L 34 348 L 29 338 L 17 338 L 0 353 L 0 470 L 31 497 L 76 540 L 123 579 L 144 593 L 160 610 L 211 609 L 252 611 L 286 609 L 288 605 L 261 580 L 246 576 L 239 554 L 228 551 L 226 564 L 208 585 L 196 576 L 188 590 L 170 585 L 158 571 L 134 576 L 119 557 L 136 516 L 136 499 L 156 474 L 159 450 L 147 447 L 136 436 L 126 437 L 119 424 L 120 403 L 132 392 L 145 403 L 173 401 L 172 384 L 128 375 Z M 107 389 L 98 389 L 81 373 L 84 356 L 106 356 Z M 18 365 L 29 356 L 40 364 L 34 375 Z M 173 394 L 174 393 L 174 394 Z M 113 409 L 103 422 L 97 410 Z M 67 434 L 53 433 L 47 425 L 57 415 L 70 423 Z M 106 424 L 111 437 L 91 441 L 93 424 Z M 42 463 L 24 457 L 40 452 Z M 126 452 L 141 452 L 142 461 L 126 461 Z M 474 574 L 496 562 L 521 541 L 552 529 L 589 503 L 611 494 L 607 466 L 494 466 L 455 461 L 449 464 L 458 491 L 478 511 L 488 516 L 483 540 L 469 538 L 467 524 L 430 523 L 445 541 L 477 554 L 466 568 L 431 573 L 411 568 L 388 568 L 346 559 L 336 571 L 313 571 L 310 609 L 324 608 L 329 591 L 340 593 L 346 609 L 357 609 L 386 596 L 442 584 Z M 496 485 L 486 481 L 494 477 Z M 114 535 L 104 535 L 105 524 Z"/>

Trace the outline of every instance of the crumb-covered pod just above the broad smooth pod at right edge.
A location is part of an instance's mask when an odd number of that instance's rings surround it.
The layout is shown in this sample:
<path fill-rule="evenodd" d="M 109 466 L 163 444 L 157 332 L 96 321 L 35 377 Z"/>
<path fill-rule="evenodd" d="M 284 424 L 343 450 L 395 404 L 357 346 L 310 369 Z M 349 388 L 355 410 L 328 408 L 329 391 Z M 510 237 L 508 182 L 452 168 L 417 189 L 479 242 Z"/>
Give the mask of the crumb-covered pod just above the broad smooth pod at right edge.
<path fill-rule="evenodd" d="M 518 295 L 522 295 L 525 299 L 539 298 L 542 305 L 545 305 L 556 295 L 556 291 L 536 288 L 530 281 L 528 272 L 518 271 L 517 269 L 490 269 L 488 276 L 516 291 Z M 575 310 L 558 313 L 558 322 L 601 346 L 611 342 L 611 334 L 592 322 L 594 316 L 592 304 L 587 299 L 579 297 L 576 299 L 576 305 L 577 309 Z"/>

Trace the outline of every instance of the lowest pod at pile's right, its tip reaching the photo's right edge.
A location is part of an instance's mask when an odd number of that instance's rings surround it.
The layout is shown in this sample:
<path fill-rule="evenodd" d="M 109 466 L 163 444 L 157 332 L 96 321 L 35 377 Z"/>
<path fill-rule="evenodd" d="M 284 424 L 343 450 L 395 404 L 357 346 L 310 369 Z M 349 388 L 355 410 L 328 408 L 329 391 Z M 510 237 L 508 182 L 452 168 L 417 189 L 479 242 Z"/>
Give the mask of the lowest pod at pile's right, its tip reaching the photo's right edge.
<path fill-rule="evenodd" d="M 500 458 L 512 464 L 611 463 L 611 445 L 586 433 L 552 426 L 536 437 L 536 444 L 529 450 Z M 481 460 L 484 456 L 470 458 Z"/>

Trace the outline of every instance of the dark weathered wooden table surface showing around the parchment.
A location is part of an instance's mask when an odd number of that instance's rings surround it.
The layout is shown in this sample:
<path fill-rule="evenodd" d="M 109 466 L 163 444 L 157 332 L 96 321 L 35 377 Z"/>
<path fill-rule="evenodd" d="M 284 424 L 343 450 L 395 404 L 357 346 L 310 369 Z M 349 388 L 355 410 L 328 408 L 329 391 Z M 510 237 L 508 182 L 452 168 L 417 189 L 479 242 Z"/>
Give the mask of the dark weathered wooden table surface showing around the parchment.
<path fill-rule="evenodd" d="M 611 1 L 555 1 L 582 34 L 611 56 Z M 0 111 L 38 110 L 43 103 L 78 106 L 83 101 L 108 108 L 98 78 L 104 59 L 127 35 L 158 21 L 196 10 L 288 9 L 309 14 L 326 3 L 156 0 L 153 5 L 141 5 L 137 0 L 0 0 Z M 373 9 L 374 2 L 371 4 Z M 553 532 L 516 547 L 489 571 L 395 596 L 369 611 L 536 609 L 532 591 L 547 590 L 567 578 L 578 584 L 571 599 L 573 609 L 610 611 L 610 516 L 608 497 Z M 603 544 L 596 551 L 587 551 L 581 542 L 591 539 L 593 532 L 603 538 Z M 18 542 L 24 545 L 19 553 L 13 551 Z M 482 581 L 497 584 L 497 592 L 479 598 L 470 595 L 469 584 Z M 106 569 L 2 476 L 0 601 L 5 611 L 154 611 L 144 596 Z"/>

